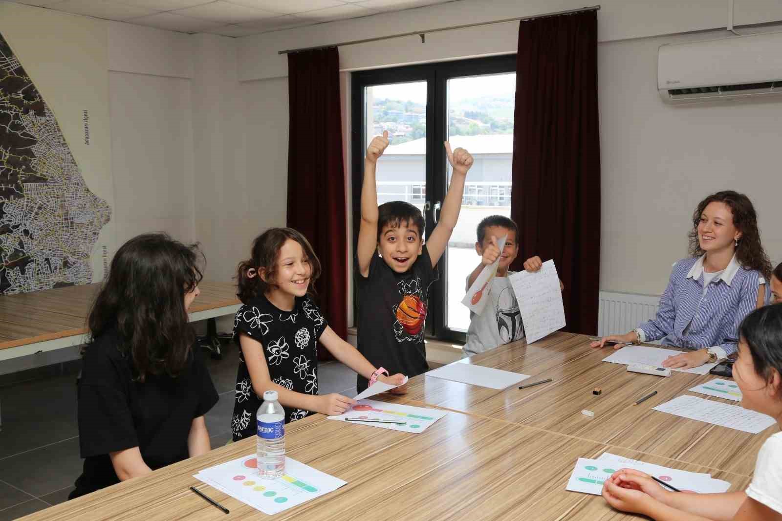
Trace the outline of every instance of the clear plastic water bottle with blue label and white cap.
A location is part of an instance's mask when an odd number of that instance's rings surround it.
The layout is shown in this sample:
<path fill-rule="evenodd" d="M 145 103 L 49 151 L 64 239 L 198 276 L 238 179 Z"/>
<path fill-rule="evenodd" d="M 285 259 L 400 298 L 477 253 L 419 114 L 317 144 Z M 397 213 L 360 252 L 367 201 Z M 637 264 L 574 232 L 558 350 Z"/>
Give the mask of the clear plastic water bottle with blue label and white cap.
<path fill-rule="evenodd" d="M 285 473 L 285 410 L 277 401 L 277 391 L 266 391 L 256 415 L 258 475 L 276 480 Z"/>

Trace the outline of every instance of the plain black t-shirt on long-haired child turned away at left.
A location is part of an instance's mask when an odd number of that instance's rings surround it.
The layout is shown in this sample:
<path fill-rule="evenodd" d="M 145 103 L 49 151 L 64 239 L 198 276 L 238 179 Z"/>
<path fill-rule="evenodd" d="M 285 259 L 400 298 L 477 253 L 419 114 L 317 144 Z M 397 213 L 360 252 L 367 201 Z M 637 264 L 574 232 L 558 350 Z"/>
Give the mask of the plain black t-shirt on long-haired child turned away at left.
<path fill-rule="evenodd" d="M 192 421 L 217 403 L 217 390 L 194 347 L 176 377 L 135 380 L 133 361 L 118 332 L 95 339 L 84 352 L 78 389 L 79 445 L 84 472 L 70 498 L 119 483 L 109 452 L 138 447 L 150 469 L 188 458 Z"/>

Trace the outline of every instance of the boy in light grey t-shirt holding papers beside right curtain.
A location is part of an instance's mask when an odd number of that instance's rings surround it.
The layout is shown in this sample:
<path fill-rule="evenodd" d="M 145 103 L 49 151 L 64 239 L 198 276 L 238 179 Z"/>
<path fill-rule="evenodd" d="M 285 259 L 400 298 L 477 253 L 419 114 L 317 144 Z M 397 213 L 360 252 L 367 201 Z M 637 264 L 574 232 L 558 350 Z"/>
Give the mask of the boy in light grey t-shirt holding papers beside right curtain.
<path fill-rule="evenodd" d="M 465 357 L 524 338 L 522 314 L 518 309 L 518 301 L 513 293 L 511 282 L 508 280 L 508 276 L 514 273 L 508 268 L 518 255 L 517 233 L 516 223 L 504 215 L 490 215 L 478 225 L 475 252 L 481 256 L 481 262 L 468 275 L 466 289 L 470 289 L 484 268 L 490 269 L 498 258 L 500 263 L 497 266 L 497 275 L 490 282 L 491 290 L 486 307 L 480 314 L 470 313 L 467 342 L 462 348 Z M 506 235 L 505 244 L 500 252 L 497 243 Z M 542 265 L 540 257 L 531 257 L 525 261 L 524 269 L 538 271 Z M 564 288 L 561 282 L 560 287 Z"/>

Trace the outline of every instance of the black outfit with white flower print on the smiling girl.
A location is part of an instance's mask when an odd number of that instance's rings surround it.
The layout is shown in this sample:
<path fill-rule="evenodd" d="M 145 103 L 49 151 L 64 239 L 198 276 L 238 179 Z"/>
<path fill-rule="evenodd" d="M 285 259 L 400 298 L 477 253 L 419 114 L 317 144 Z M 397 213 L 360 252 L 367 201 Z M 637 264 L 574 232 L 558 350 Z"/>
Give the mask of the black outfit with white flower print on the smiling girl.
<path fill-rule="evenodd" d="M 246 333 L 264 347 L 271 381 L 296 393 L 317 394 L 317 339 L 326 330 L 326 319 L 309 296 L 297 296 L 292 311 L 282 311 L 266 296 L 250 300 L 234 317 L 234 340 Z M 244 353 L 239 354 L 236 399 L 231 418 L 234 441 L 256 434 L 255 416 L 263 399 L 253 390 Z M 285 409 L 285 423 L 310 414 L 298 408 Z"/>

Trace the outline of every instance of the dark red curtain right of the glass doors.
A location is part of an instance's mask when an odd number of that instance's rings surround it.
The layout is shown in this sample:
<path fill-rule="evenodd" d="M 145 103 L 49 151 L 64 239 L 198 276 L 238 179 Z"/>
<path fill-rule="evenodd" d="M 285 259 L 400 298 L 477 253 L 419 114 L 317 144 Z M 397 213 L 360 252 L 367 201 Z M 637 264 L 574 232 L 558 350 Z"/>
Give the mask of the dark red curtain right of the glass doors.
<path fill-rule="evenodd" d="M 511 217 L 519 253 L 554 259 L 565 283 L 565 331 L 597 333 L 600 138 L 597 12 L 518 28 Z"/>

